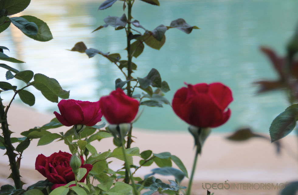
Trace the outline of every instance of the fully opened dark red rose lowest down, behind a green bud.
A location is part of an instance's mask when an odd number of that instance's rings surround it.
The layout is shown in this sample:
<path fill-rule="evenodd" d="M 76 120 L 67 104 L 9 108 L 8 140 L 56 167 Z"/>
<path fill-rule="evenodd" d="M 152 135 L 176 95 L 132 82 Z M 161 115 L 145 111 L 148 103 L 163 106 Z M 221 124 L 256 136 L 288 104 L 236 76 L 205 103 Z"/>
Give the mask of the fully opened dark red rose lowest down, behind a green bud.
<path fill-rule="evenodd" d="M 52 190 L 64 186 L 65 184 L 75 180 L 75 174 L 69 165 L 71 154 L 59 151 L 51 154 L 49 157 L 40 154 L 36 157 L 35 169 L 45 176 L 51 183 L 54 183 Z M 80 180 L 84 182 L 88 172 L 92 169 L 92 165 L 84 164 L 84 159 L 81 158 L 81 168 L 86 168 L 87 173 Z"/>

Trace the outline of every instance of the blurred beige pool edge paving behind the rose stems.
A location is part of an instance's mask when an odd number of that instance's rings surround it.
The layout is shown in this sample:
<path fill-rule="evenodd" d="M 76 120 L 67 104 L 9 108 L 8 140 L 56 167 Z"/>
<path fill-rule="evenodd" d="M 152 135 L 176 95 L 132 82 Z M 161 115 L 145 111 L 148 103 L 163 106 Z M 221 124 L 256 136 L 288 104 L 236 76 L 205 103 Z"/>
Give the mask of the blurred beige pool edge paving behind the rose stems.
<path fill-rule="evenodd" d="M 18 137 L 22 131 L 29 130 L 35 126 L 42 126 L 48 123 L 54 114 L 37 113 L 35 110 L 21 105 L 12 105 L 8 113 L 10 130 Z M 65 132 L 69 128 L 60 127 L 50 130 L 51 132 Z M 140 151 L 151 149 L 154 153 L 169 151 L 178 156 L 185 164 L 188 172 L 191 171 L 194 157 L 193 138 L 185 130 L 181 132 L 154 131 L 144 129 L 133 129 L 135 143 L 132 147 L 139 147 Z M 233 142 L 225 139 L 227 134 L 213 133 L 206 140 L 202 155 L 199 156 L 196 175 L 193 186 L 194 194 L 206 194 L 203 189 L 205 183 L 224 183 L 228 180 L 230 185 L 234 183 L 285 183 L 298 180 L 298 153 L 297 138 L 287 136 L 282 139 L 281 154 L 277 155 L 275 146 L 270 141 L 261 138 L 254 138 L 245 142 Z M 32 184 L 36 181 L 45 179 L 34 170 L 35 158 L 38 154 L 49 156 L 50 154 L 61 151 L 69 151 L 63 142 L 52 142 L 46 146 L 36 146 L 34 140 L 28 149 L 23 153 L 21 162 L 21 175 L 23 181 Z M 93 142 L 97 151 L 113 150 L 115 146 L 111 138 L 103 139 L 100 142 Z M 4 151 L 0 153 L 3 155 Z M 134 161 L 138 161 L 134 158 Z M 114 161 L 110 164 L 111 169 L 116 170 L 122 165 L 121 161 Z M 0 184 L 12 183 L 11 179 L 6 179 L 9 175 L 8 158 L 4 155 L 0 158 Z M 136 163 L 137 164 L 137 163 Z M 144 176 L 156 165 L 144 167 L 136 172 L 137 176 Z M 171 179 L 171 178 L 170 178 Z M 185 185 L 188 179 L 185 179 Z M 207 184 L 208 186 L 208 184 Z M 256 185 L 257 187 L 258 185 Z M 277 194 L 278 190 L 254 189 L 254 190 L 213 190 L 215 194 Z"/>

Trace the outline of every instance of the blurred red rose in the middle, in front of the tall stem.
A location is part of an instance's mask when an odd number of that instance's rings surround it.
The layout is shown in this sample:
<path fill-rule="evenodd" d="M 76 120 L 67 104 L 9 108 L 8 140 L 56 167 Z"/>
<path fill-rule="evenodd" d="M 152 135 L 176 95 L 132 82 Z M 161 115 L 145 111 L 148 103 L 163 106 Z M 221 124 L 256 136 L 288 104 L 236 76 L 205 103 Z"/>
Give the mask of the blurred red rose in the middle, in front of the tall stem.
<path fill-rule="evenodd" d="M 103 116 L 110 124 L 130 123 L 136 117 L 139 102 L 117 88 L 99 100 Z"/>

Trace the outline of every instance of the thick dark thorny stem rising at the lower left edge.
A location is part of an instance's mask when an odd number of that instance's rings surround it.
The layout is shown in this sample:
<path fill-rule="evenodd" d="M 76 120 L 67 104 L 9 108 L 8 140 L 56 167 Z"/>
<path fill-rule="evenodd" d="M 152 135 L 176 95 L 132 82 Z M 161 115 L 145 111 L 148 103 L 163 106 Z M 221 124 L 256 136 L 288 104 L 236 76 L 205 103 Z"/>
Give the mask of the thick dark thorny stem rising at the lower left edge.
<path fill-rule="evenodd" d="M 8 108 L 6 108 L 8 110 Z M 6 149 L 6 154 L 8 155 L 9 159 L 9 165 L 11 169 L 11 176 L 12 179 L 15 183 L 16 189 L 22 189 L 22 182 L 20 178 L 20 172 L 19 172 L 19 167 L 16 163 L 16 156 L 14 153 L 14 147 L 11 143 L 11 138 L 10 138 L 10 131 L 8 128 L 8 123 L 7 123 L 7 115 L 4 111 L 4 106 L 2 104 L 2 99 L 0 97 L 0 119 L 1 119 L 1 128 L 3 132 L 3 137 L 4 137 L 4 146 Z"/>

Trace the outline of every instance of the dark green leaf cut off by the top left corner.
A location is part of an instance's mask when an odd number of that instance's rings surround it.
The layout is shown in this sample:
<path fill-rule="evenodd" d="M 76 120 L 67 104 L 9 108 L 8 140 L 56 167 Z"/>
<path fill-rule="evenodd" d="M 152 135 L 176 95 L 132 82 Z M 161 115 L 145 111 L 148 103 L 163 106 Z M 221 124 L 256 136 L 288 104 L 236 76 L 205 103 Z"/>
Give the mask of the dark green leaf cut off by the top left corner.
<path fill-rule="evenodd" d="M 30 3 L 30 0 L 1 0 L 0 10 L 6 9 L 7 15 L 13 15 L 26 9 Z"/>

